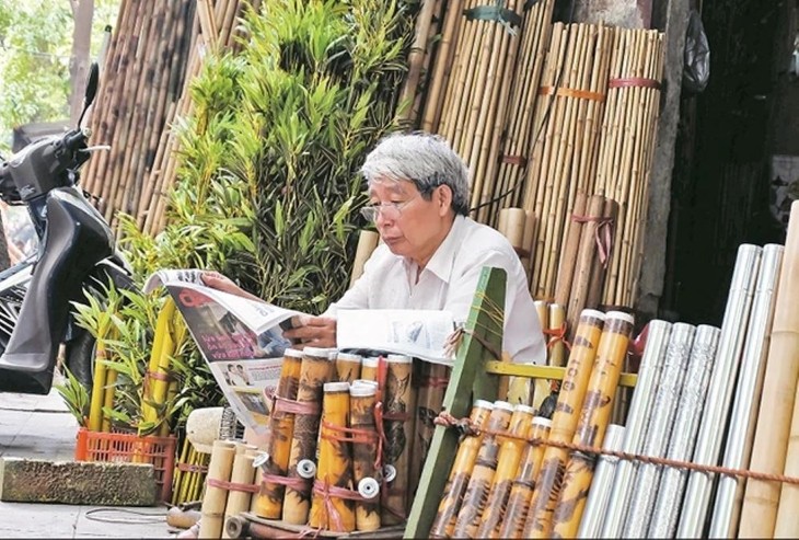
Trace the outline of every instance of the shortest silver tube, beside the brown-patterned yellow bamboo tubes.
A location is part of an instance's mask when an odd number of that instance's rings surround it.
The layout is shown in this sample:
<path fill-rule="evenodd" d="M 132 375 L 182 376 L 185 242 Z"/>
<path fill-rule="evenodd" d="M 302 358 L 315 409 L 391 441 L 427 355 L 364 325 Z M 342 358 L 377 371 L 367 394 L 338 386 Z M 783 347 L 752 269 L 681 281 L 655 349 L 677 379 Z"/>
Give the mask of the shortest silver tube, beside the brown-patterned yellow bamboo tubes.
<path fill-rule="evenodd" d="M 610 424 L 605 432 L 605 440 L 602 448 L 605 450 L 621 450 L 624 444 L 624 426 Z M 605 517 L 605 509 L 611 497 L 611 485 L 613 473 L 616 469 L 618 458 L 601 455 L 597 462 L 597 470 L 591 481 L 591 490 L 588 492 L 586 509 L 582 513 L 580 528 L 577 529 L 577 538 L 602 538 L 600 536 L 602 521 Z"/>

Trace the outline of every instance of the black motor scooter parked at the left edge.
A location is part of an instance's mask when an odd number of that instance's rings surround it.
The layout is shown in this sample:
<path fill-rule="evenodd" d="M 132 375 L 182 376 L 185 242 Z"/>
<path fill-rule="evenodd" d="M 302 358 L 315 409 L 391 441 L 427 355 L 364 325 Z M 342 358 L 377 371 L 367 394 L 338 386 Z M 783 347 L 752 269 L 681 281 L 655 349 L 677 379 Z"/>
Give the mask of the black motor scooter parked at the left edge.
<path fill-rule="evenodd" d="M 0 392 L 46 394 L 60 344 L 70 371 L 91 389 L 94 338 L 77 325 L 73 301 L 104 287 L 132 288 L 130 269 L 114 233 L 79 186 L 79 169 L 96 150 L 81 120 L 97 92 L 93 64 L 78 127 L 36 140 L 8 161 L 0 159 L 0 198 L 25 205 L 39 248 L 0 273 Z"/>

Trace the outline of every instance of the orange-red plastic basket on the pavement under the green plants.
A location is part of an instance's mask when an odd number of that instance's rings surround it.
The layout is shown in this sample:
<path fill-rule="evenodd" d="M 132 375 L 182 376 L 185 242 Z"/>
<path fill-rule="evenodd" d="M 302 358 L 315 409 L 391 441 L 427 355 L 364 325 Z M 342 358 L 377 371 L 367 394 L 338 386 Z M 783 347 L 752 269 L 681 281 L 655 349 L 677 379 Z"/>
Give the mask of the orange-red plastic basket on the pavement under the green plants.
<path fill-rule="evenodd" d="M 139 437 L 129 433 L 78 430 L 76 461 L 152 463 L 161 501 L 172 496 L 172 472 L 175 468 L 175 437 Z"/>

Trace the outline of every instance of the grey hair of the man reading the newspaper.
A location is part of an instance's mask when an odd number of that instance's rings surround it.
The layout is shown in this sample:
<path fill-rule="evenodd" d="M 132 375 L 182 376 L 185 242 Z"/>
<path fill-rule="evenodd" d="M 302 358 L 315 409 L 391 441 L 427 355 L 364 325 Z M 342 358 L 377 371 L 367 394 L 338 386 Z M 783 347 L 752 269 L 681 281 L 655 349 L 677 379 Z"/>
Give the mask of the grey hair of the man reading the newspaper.
<path fill-rule="evenodd" d="M 468 170 L 443 137 L 426 133 L 395 134 L 381 139 L 369 152 L 361 173 L 371 185 L 375 180 L 413 182 L 430 200 L 432 191 L 452 189 L 452 209 L 468 214 Z"/>

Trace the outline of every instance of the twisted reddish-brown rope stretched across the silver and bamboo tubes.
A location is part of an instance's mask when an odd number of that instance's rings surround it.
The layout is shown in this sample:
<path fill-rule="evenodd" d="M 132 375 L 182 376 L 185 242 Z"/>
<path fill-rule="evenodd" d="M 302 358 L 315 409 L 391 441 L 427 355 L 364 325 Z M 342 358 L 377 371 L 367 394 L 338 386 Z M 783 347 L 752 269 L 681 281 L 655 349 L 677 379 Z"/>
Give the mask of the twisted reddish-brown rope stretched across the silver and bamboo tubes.
<path fill-rule="evenodd" d="M 588 459 L 597 459 L 599 455 L 610 456 L 626 461 L 639 461 L 641 463 L 651 463 L 655 466 L 672 467 L 675 469 L 686 469 L 690 471 L 709 472 L 715 474 L 723 474 L 727 476 L 741 476 L 746 479 L 765 480 L 773 482 L 784 482 L 787 484 L 799 485 L 799 478 L 786 476 L 784 474 L 769 474 L 764 472 L 748 471 L 743 469 L 730 469 L 728 467 L 720 466 L 703 466 L 699 463 L 693 463 L 691 461 L 680 461 L 676 459 L 658 458 L 655 456 L 641 456 L 639 453 L 629 453 L 619 450 L 607 450 L 604 448 L 598 448 L 594 446 L 587 445 L 575 445 L 574 443 L 561 443 L 555 440 L 547 440 L 541 438 L 530 438 L 514 435 L 510 432 L 501 432 L 496 429 L 485 429 L 475 425 L 468 417 L 455 418 L 450 413 L 442 411 L 433 421 L 436 425 L 443 427 L 455 427 L 463 435 L 494 435 L 496 437 L 506 437 L 511 439 L 524 440 L 531 445 L 544 445 L 560 448 L 563 450 L 572 450 L 582 453 Z"/>

